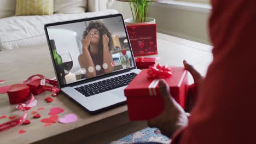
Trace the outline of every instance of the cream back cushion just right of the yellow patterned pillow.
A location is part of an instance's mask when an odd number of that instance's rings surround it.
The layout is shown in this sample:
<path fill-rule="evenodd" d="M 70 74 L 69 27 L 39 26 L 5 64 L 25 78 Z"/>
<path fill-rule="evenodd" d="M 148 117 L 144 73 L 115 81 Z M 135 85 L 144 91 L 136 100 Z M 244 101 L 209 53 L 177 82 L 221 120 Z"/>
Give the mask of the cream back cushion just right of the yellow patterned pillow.
<path fill-rule="evenodd" d="M 54 13 L 85 13 L 87 0 L 54 0 Z"/>

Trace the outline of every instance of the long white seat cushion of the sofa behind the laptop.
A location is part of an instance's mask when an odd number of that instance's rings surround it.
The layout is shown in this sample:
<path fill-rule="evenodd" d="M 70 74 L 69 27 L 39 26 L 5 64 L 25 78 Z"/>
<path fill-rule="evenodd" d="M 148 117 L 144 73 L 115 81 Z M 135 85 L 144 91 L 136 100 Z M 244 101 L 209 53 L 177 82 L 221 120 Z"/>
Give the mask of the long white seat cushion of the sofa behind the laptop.
<path fill-rule="evenodd" d="M 117 13 L 117 10 L 108 9 L 83 14 L 12 16 L 0 19 L 0 50 L 11 50 L 47 43 L 44 33 L 44 25 L 46 23 Z"/>

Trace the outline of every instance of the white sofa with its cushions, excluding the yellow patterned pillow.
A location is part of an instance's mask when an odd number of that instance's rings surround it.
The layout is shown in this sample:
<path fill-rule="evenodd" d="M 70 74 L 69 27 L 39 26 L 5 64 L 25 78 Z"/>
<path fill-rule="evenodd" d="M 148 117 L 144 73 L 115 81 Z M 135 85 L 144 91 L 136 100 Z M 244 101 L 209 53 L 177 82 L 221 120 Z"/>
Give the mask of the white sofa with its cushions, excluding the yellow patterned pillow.
<path fill-rule="evenodd" d="M 54 0 L 53 15 L 15 16 L 16 0 L 0 1 L 0 51 L 46 44 L 44 25 L 57 21 L 117 14 L 113 0 Z"/>

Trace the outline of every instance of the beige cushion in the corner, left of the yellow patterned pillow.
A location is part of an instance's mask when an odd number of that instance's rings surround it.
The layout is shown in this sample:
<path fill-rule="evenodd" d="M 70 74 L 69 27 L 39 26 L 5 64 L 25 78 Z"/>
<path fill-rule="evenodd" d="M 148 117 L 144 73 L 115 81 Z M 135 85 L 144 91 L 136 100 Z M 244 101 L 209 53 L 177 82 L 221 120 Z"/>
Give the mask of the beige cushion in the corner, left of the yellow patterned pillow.
<path fill-rule="evenodd" d="M 15 15 L 16 0 L 0 0 L 0 19 Z"/>

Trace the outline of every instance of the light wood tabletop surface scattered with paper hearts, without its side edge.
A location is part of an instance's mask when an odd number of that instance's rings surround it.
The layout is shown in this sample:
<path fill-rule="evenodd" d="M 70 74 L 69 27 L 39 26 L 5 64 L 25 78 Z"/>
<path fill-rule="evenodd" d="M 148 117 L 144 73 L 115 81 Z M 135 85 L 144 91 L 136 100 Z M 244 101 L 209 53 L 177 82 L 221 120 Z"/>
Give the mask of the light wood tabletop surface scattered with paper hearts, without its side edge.
<path fill-rule="evenodd" d="M 207 67 L 212 61 L 211 49 L 212 46 L 209 45 L 158 33 L 158 55 L 147 57 L 160 57 L 157 63 L 178 67 L 182 67 L 183 59 L 186 59 L 202 75 L 205 75 Z M 55 77 L 48 45 L 0 51 L 0 79 L 6 80 L 5 83 L 0 84 L 0 87 L 22 83 L 27 77 L 34 74 L 42 74 L 48 78 Z M 193 79 L 190 75 L 189 83 L 192 82 Z M 51 92 L 44 92 L 36 95 L 36 99 L 38 100 L 37 106 L 28 110 L 27 119 L 30 119 L 31 124 L 18 125 L 2 131 L 0 135 L 1 143 L 37 142 L 127 111 L 127 105 L 123 105 L 97 115 L 90 115 L 63 94 L 55 97 L 52 103 L 46 103 L 44 99 L 50 97 L 51 94 Z M 9 104 L 6 93 L 0 94 L 0 117 L 3 115 L 7 116 L 7 118 L 0 118 L 0 124 L 9 121 L 9 116 L 20 115 L 21 111 L 16 110 L 15 106 Z M 39 107 L 44 107 L 44 110 L 38 111 Z M 59 114 L 59 117 L 64 117 L 68 113 L 75 113 L 78 121 L 69 124 L 54 123 L 50 127 L 44 127 L 44 123 L 41 123 L 40 120 L 49 117 L 48 112 L 52 107 L 61 107 L 65 110 L 65 112 Z M 37 111 L 41 117 L 33 118 L 31 111 Z M 26 130 L 26 133 L 19 134 L 19 130 Z"/>

